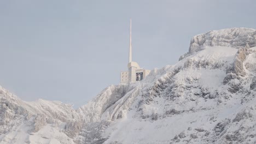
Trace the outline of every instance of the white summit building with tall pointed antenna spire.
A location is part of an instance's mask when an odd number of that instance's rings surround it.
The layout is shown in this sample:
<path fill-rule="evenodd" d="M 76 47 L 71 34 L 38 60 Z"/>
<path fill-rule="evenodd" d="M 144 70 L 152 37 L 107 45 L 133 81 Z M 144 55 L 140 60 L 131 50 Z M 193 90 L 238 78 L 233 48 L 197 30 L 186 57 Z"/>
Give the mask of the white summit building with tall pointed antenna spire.
<path fill-rule="evenodd" d="M 131 19 L 130 19 L 130 43 L 129 43 L 129 63 L 127 64 L 128 71 L 121 71 L 120 82 L 136 82 L 141 81 L 146 77 L 150 70 L 140 68 L 137 62 L 132 61 L 132 44 L 131 44 Z"/>

